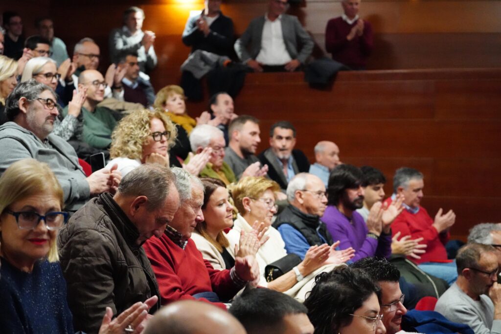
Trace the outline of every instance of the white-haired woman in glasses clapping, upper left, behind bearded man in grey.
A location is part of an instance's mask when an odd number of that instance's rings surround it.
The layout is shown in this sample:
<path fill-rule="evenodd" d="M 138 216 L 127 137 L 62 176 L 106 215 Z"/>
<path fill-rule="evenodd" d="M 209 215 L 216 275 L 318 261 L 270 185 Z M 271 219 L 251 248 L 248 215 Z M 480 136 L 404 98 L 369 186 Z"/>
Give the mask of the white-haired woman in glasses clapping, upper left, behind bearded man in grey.
<path fill-rule="evenodd" d="M 59 115 L 54 121 L 54 130 L 52 133 L 65 140 L 70 140 L 75 133 L 82 133 L 83 131 L 83 123 L 78 121 L 78 116 L 85 101 L 86 89 L 77 93 L 73 84 L 67 84 L 65 87 L 62 87 L 59 85 L 60 75 L 57 71 L 56 62 L 51 58 L 32 58 L 26 63 L 21 82 L 35 79 L 39 83 L 49 86 L 57 93 L 57 102 L 60 106 L 64 107 L 68 105 L 68 115 L 66 117 L 59 110 Z M 69 99 L 72 100 L 69 101 Z"/>

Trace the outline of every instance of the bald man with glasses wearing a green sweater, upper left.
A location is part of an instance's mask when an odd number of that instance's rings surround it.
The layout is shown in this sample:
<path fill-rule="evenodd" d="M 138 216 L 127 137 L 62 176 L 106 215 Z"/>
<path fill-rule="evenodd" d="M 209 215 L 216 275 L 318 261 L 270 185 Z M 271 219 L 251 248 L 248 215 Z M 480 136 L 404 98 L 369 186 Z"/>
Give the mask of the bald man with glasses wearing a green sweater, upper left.
<path fill-rule="evenodd" d="M 104 99 L 107 86 L 99 71 L 85 70 L 80 74 L 78 90 L 86 92 L 85 100 L 79 102 L 80 113 L 69 115 L 68 107 L 63 110 L 65 121 L 73 123 L 72 127 L 68 127 L 68 131 L 73 131 L 71 140 L 83 141 L 96 149 L 109 148 L 111 133 L 117 120 L 111 109 L 98 106 L 98 103 Z M 67 117 L 70 117 L 70 120 L 66 120 Z M 77 153 L 79 153 L 78 150 Z"/>

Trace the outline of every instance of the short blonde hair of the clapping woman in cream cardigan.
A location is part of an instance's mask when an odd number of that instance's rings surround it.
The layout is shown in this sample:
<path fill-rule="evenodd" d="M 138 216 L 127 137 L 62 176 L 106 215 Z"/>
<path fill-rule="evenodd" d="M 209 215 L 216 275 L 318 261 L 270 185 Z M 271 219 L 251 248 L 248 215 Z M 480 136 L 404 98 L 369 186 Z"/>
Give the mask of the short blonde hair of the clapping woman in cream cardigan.
<path fill-rule="evenodd" d="M 268 189 L 274 193 L 280 191 L 280 186 L 277 182 L 264 176 L 247 176 L 240 179 L 236 184 L 232 183 L 228 185 L 227 188 L 240 214 L 245 212 L 242 204 L 244 197 L 259 198 Z"/>

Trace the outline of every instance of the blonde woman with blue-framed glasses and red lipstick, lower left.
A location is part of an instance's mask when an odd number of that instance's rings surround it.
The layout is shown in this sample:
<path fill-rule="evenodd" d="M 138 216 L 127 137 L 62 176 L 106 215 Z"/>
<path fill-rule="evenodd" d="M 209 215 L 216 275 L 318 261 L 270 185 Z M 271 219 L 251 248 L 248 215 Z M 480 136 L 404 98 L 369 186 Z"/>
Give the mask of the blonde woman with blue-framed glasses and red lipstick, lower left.
<path fill-rule="evenodd" d="M 57 233 L 68 219 L 63 203 L 63 190 L 47 164 L 23 159 L 0 177 L 2 332 L 73 333 L 66 282 L 57 262 Z M 152 301 L 137 303 L 114 320 L 108 308 L 100 334 L 142 327 L 143 311 Z"/>

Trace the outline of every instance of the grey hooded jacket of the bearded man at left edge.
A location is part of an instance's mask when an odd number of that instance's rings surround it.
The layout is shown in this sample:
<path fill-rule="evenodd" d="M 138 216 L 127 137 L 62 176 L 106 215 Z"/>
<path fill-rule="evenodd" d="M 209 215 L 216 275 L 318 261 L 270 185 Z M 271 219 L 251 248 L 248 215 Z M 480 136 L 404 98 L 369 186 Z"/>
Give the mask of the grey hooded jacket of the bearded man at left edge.
<path fill-rule="evenodd" d="M 0 126 L 0 174 L 14 162 L 33 158 L 45 162 L 64 191 L 65 210 L 78 210 L 90 197 L 89 183 L 73 147 L 50 134 L 46 143 L 14 122 Z"/>

